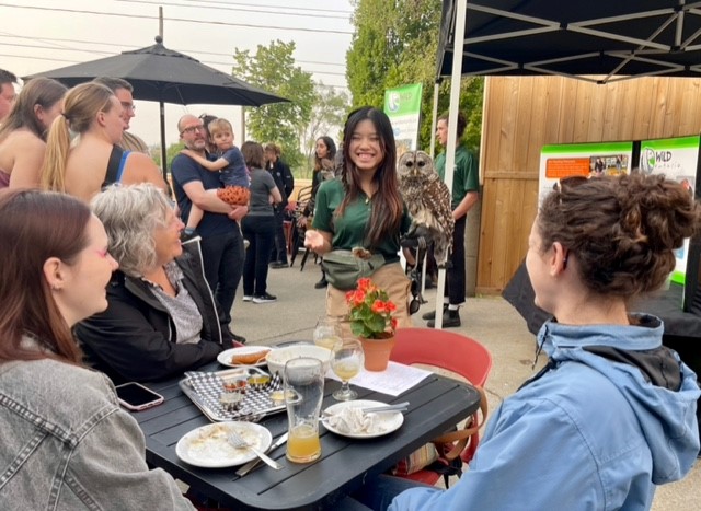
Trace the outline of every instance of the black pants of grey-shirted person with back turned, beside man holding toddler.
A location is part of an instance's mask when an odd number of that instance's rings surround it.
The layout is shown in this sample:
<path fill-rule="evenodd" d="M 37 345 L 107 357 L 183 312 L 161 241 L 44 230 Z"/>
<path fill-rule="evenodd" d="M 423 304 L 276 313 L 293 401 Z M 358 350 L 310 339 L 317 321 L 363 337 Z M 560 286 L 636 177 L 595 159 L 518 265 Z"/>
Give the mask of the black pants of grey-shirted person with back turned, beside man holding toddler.
<path fill-rule="evenodd" d="M 243 294 L 261 297 L 267 292 L 267 268 L 271 251 L 275 243 L 275 220 L 273 217 L 243 217 L 243 235 L 249 240 L 243 264 Z"/>

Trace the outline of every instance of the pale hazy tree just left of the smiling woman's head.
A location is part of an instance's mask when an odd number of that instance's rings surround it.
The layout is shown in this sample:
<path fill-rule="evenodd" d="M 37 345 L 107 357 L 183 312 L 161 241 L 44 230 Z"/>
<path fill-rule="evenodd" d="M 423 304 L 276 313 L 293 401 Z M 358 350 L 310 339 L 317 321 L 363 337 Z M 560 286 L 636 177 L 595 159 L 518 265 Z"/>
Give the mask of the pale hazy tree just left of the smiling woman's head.
<path fill-rule="evenodd" d="M 311 118 L 300 137 L 307 161 L 304 172 L 299 174 L 300 177 L 311 177 L 314 148 L 319 137 L 326 135 L 336 142 L 341 140 L 343 125 L 350 105 L 348 94 L 336 92 L 323 83 L 317 84 L 314 92 L 317 98 Z"/>

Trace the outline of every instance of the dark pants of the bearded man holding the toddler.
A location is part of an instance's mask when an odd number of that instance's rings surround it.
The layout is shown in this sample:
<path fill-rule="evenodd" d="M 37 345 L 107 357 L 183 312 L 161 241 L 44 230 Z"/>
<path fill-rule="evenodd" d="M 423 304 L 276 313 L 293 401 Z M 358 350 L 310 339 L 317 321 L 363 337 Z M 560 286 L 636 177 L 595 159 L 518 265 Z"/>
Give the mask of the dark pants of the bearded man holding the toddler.
<path fill-rule="evenodd" d="M 231 232 L 203 237 L 200 242 L 205 278 L 231 322 L 231 307 L 243 272 L 243 237 L 238 225 Z"/>

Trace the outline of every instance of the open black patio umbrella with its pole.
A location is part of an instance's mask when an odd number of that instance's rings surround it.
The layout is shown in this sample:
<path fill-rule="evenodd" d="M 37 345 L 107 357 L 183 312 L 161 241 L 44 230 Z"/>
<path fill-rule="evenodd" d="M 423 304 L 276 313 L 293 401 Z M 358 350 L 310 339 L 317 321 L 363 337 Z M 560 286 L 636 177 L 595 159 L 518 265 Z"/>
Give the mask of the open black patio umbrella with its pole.
<path fill-rule="evenodd" d="M 168 49 L 162 40 L 157 36 L 153 46 L 35 73 L 25 80 L 46 77 L 73 86 L 97 77 L 115 77 L 131 83 L 136 100 L 158 101 L 161 106 L 161 162 L 164 177 L 166 169 L 163 103 L 261 106 L 288 101 L 205 66 L 187 55 Z"/>

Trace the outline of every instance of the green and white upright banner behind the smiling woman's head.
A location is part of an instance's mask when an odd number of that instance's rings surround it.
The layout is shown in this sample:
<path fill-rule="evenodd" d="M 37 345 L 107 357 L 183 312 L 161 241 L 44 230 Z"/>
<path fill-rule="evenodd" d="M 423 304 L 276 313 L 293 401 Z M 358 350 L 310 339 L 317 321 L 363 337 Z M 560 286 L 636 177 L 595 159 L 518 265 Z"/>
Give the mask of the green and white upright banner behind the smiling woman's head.
<path fill-rule="evenodd" d="M 398 160 L 418 144 L 422 89 L 421 83 L 414 83 L 384 92 L 384 113 L 392 123 Z"/>

